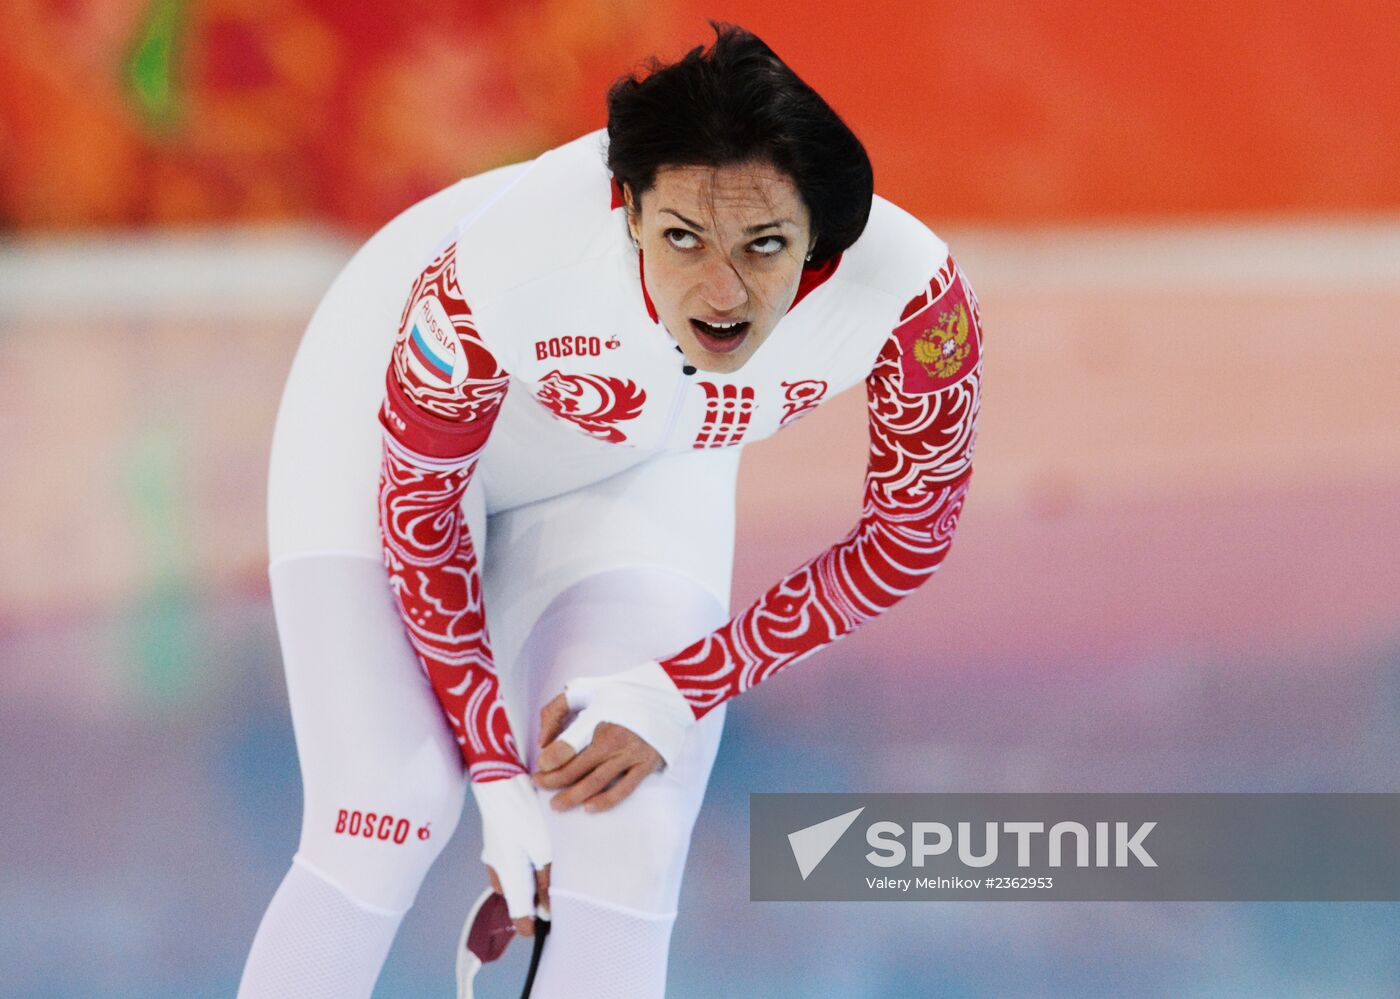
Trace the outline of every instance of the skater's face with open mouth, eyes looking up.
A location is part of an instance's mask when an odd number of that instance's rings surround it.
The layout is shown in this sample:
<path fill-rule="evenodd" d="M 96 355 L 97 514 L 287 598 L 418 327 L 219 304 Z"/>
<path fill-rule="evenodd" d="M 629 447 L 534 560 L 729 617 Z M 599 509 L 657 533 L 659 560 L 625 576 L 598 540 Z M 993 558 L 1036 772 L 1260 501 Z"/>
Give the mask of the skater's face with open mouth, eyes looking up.
<path fill-rule="evenodd" d="M 738 371 L 792 305 L 812 249 L 792 178 L 766 161 L 662 166 L 623 189 L 657 315 L 701 371 Z"/>

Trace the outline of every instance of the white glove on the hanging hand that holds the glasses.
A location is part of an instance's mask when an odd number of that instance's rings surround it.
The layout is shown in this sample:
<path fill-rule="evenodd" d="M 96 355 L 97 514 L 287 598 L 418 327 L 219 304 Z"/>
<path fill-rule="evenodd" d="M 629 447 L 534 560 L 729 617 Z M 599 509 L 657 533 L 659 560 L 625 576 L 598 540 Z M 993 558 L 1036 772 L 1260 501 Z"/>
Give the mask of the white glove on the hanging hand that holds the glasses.
<path fill-rule="evenodd" d="M 535 915 L 535 872 L 550 862 L 549 831 L 529 774 L 472 781 L 482 813 L 482 860 L 501 879 L 511 919 Z"/>

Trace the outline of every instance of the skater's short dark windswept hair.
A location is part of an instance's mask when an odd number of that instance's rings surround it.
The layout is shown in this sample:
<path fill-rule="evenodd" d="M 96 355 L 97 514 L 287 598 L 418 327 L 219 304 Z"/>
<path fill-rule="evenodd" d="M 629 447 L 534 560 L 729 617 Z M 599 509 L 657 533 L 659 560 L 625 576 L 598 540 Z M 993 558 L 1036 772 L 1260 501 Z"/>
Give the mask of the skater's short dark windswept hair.
<path fill-rule="evenodd" d="M 714 45 L 608 91 L 608 169 L 634 197 L 662 166 L 767 160 L 787 172 L 812 215 L 813 263 L 854 243 L 875 182 L 865 147 L 820 95 L 756 35 L 710 22 Z"/>

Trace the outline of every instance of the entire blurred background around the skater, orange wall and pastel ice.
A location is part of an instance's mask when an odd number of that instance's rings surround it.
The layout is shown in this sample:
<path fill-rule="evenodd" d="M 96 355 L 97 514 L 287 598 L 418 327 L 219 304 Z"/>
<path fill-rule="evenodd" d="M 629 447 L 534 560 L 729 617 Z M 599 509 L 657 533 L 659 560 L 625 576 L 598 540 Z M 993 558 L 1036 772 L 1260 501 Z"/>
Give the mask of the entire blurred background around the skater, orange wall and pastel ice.
<path fill-rule="evenodd" d="M 987 368 L 941 572 L 731 711 L 672 995 L 1396 993 L 1397 904 L 749 902 L 748 793 L 1400 791 L 1400 6 L 10 0 L 0 995 L 232 995 L 301 814 L 263 494 L 305 322 L 706 17 L 951 242 Z M 736 607 L 854 520 L 862 404 L 749 449 Z M 476 837 L 378 995 L 449 995 Z"/>

